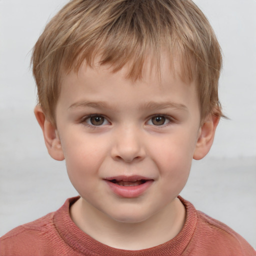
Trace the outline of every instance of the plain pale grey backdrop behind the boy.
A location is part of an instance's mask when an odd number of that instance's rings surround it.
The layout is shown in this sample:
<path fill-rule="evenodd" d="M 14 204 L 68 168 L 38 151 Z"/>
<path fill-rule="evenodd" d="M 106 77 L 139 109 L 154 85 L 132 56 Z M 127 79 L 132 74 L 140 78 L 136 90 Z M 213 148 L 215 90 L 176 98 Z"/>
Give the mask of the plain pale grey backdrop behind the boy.
<path fill-rule="evenodd" d="M 67 0 L 0 0 L 0 235 L 76 195 L 64 162 L 46 152 L 33 116 L 31 49 Z M 182 195 L 256 247 L 256 0 L 195 0 L 223 51 L 223 112 L 208 156 Z"/>

